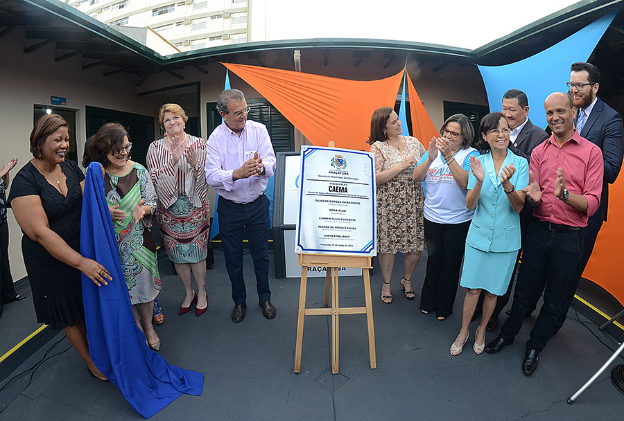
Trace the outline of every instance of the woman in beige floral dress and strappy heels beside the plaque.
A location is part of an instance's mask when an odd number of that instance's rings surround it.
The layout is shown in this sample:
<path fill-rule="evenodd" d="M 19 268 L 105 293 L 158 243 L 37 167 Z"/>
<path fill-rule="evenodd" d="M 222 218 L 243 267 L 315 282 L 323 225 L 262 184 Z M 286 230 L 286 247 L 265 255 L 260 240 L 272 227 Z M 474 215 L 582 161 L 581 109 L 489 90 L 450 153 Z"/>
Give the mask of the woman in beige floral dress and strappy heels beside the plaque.
<path fill-rule="evenodd" d="M 412 274 L 424 249 L 424 195 L 420 183 L 412 179 L 412 168 L 425 148 L 417 138 L 402 136 L 402 131 L 401 120 L 392 108 L 374 111 L 368 143 L 375 154 L 381 301 L 387 304 L 392 303 L 390 278 L 395 254 L 405 253 L 401 290 L 408 300 L 413 300 Z"/>

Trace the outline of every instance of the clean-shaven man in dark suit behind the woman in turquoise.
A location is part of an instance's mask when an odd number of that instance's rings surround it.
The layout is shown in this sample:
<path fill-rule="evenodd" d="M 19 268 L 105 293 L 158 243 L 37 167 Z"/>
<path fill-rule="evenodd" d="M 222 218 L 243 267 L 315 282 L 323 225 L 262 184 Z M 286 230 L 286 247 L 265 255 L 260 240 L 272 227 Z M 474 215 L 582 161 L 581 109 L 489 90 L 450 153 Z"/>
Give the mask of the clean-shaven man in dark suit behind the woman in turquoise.
<path fill-rule="evenodd" d="M 509 149 L 514 152 L 514 154 L 523 156 L 530 161 L 532 150 L 537 145 L 545 141 L 548 138 L 548 134 L 546 134 L 544 130 L 533 125 L 531 120 L 529 120 L 529 106 L 526 93 L 520 91 L 519 89 L 510 89 L 505 92 L 505 95 L 503 95 L 503 109 L 501 111 L 503 116 L 505 116 L 505 120 L 507 120 L 509 128 L 511 129 L 509 134 Z M 520 230 L 522 236 L 524 236 L 526 228 L 531 222 L 531 218 L 532 211 L 530 208 L 525 206 L 520 213 Z M 520 253 L 521 250 L 518 251 L 518 256 L 520 256 Z M 505 308 L 505 305 L 509 302 L 514 285 L 514 278 L 517 278 L 519 268 L 520 265 L 517 262 L 507 292 L 505 292 L 505 295 L 499 297 L 496 301 L 494 313 L 492 313 L 492 317 L 489 318 L 489 322 L 487 323 L 486 330 L 488 332 L 492 332 L 496 329 L 496 326 L 499 325 L 499 314 L 501 314 L 501 311 L 503 311 L 503 308 Z M 482 303 L 483 298 L 480 297 L 478 310 L 481 308 Z M 531 309 L 531 311 L 532 310 L 535 309 Z"/>

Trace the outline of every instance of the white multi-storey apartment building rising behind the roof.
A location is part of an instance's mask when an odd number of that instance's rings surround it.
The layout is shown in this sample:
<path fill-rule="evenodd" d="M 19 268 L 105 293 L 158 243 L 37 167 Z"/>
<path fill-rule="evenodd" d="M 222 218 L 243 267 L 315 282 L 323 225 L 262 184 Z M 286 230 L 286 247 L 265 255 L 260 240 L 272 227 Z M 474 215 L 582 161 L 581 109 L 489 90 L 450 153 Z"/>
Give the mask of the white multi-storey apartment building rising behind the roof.
<path fill-rule="evenodd" d="M 66 0 L 110 26 L 152 28 L 180 51 L 248 42 L 248 0 Z"/>

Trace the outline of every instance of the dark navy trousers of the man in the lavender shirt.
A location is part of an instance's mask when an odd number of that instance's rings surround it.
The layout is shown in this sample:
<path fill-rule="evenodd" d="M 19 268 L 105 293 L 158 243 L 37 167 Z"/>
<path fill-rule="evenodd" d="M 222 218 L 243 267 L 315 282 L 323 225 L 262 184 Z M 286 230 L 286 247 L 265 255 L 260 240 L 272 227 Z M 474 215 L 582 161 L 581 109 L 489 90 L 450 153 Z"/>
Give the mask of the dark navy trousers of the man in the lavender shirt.
<path fill-rule="evenodd" d="M 223 241 L 225 268 L 232 283 L 234 304 L 243 305 L 247 299 L 243 279 L 243 228 L 247 229 L 249 250 L 254 261 L 258 298 L 270 301 L 268 282 L 268 238 L 270 234 L 269 199 L 261 195 L 249 204 L 236 204 L 219 197 L 219 233 Z"/>

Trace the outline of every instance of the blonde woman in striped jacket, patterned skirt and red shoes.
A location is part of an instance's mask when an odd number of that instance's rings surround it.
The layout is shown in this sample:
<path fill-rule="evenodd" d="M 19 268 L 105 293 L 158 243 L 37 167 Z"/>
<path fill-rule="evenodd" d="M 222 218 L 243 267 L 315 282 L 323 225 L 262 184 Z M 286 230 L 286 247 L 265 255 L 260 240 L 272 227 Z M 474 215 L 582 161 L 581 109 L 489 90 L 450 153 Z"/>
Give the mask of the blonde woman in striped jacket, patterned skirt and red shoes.
<path fill-rule="evenodd" d="M 147 154 L 150 177 L 156 188 L 155 211 L 169 260 L 184 285 L 179 314 L 191 310 L 201 316 L 208 307 L 206 256 L 210 229 L 208 183 L 204 171 L 206 142 L 184 133 L 187 114 L 177 104 L 160 107 L 158 119 L 164 138 L 154 141 Z M 197 292 L 191 285 L 191 273 Z"/>

